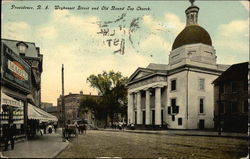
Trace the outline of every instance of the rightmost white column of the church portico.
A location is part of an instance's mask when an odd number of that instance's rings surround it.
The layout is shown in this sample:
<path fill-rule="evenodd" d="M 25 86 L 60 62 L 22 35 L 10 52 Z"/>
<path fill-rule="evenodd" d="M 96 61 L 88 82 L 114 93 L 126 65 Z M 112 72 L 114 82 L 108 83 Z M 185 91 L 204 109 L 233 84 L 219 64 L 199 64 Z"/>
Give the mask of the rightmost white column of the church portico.
<path fill-rule="evenodd" d="M 155 88 L 155 125 L 161 125 L 161 88 Z"/>

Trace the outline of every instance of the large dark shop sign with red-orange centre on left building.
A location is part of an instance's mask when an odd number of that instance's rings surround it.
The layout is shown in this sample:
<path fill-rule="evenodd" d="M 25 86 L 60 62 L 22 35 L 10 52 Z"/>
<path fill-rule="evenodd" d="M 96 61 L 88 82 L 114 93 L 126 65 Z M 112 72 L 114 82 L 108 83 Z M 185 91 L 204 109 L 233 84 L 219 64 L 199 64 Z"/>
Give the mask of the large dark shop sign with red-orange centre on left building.
<path fill-rule="evenodd" d="M 30 66 L 4 43 L 2 43 L 1 59 L 2 79 L 19 89 L 30 92 Z"/>

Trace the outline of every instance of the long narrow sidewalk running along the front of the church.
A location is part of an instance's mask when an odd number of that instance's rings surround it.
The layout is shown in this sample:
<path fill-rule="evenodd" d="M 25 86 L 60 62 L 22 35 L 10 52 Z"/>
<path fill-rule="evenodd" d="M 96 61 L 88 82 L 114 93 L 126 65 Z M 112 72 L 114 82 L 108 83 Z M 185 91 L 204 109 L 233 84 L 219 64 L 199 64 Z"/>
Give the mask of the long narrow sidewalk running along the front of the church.
<path fill-rule="evenodd" d="M 101 131 L 123 131 L 118 129 L 99 129 Z M 221 135 L 218 135 L 218 132 L 215 131 L 205 131 L 205 130 L 128 130 L 124 129 L 125 132 L 130 133 L 145 133 L 145 134 L 163 134 L 163 135 L 181 135 L 181 136 L 207 136 L 207 137 L 228 137 L 228 138 L 242 138 L 247 139 L 247 133 L 229 133 L 222 132 Z"/>

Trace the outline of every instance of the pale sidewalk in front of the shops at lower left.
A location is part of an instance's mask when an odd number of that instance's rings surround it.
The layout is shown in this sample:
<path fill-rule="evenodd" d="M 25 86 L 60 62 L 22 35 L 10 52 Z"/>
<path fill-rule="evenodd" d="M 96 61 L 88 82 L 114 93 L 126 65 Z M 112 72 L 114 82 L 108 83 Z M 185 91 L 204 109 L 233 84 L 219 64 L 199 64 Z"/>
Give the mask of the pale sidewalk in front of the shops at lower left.
<path fill-rule="evenodd" d="M 3 151 L 3 156 L 9 158 L 54 158 L 63 151 L 69 142 L 62 141 L 60 132 L 37 135 L 36 138 L 18 142 L 14 150 Z"/>

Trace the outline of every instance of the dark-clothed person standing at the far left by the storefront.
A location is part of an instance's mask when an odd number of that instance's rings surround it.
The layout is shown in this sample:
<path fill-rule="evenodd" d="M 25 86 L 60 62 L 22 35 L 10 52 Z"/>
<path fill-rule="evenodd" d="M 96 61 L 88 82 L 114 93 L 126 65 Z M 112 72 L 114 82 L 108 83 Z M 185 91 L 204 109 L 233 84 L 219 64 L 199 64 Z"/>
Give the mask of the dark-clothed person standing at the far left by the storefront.
<path fill-rule="evenodd" d="M 6 129 L 4 130 L 5 132 L 5 145 L 4 145 L 4 150 L 7 151 L 9 147 L 9 141 L 11 144 L 11 149 L 14 149 L 15 146 L 15 135 L 16 135 L 16 127 L 14 124 L 8 125 Z"/>

